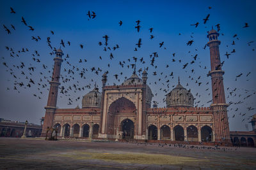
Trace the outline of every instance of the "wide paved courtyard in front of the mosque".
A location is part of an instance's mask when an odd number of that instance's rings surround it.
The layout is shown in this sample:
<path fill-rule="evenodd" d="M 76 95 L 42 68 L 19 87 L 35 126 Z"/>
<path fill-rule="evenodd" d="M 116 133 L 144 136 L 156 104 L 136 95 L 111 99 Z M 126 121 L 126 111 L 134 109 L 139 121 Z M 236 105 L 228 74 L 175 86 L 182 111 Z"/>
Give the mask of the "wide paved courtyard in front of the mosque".
<path fill-rule="evenodd" d="M 0 138 L 0 169 L 256 169 L 256 148 Z"/>

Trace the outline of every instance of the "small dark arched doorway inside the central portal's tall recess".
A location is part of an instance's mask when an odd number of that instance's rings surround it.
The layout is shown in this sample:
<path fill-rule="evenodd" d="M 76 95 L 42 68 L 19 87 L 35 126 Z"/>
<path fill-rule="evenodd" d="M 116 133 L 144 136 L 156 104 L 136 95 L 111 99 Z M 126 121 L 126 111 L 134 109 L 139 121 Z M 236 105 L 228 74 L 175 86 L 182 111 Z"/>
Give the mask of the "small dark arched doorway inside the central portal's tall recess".
<path fill-rule="evenodd" d="M 134 124 L 127 118 L 121 122 L 123 136 L 122 139 L 133 139 L 134 136 Z"/>

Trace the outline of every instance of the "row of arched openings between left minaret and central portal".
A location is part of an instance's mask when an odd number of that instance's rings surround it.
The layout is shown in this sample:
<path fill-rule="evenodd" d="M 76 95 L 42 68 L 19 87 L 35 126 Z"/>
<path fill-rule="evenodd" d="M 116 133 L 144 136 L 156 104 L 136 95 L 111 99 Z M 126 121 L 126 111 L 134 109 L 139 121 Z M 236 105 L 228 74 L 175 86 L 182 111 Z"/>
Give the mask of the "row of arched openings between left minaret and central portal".
<path fill-rule="evenodd" d="M 55 124 L 54 127 L 58 131 L 58 137 L 62 138 L 97 138 L 99 135 L 99 125 L 98 124 L 70 124 L 66 123 L 64 125 Z"/>

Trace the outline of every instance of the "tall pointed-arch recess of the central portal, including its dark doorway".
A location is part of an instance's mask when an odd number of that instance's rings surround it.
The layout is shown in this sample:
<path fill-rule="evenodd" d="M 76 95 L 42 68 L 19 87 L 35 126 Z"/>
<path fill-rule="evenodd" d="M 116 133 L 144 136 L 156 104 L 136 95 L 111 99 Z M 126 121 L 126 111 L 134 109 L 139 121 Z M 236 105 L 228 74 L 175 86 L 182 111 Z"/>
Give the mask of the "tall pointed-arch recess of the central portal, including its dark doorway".
<path fill-rule="evenodd" d="M 118 132 L 122 132 L 122 138 L 133 139 L 136 134 L 136 122 L 132 120 L 135 119 L 136 106 L 132 101 L 120 97 L 111 103 L 108 110 L 108 138 L 116 138 Z"/>

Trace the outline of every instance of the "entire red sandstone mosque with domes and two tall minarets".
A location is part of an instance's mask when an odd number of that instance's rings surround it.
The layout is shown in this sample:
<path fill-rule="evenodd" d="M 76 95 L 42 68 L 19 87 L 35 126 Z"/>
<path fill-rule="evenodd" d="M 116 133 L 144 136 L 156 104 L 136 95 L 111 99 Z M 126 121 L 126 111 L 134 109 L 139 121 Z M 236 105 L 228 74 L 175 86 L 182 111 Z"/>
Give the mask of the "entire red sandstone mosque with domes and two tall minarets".
<path fill-rule="evenodd" d="M 218 32 L 209 31 L 212 104 L 195 108 L 194 98 L 179 84 L 166 97 L 167 108 L 150 108 L 152 92 L 147 72 L 142 79 L 135 73 L 122 85 L 106 86 L 102 75 L 102 94 L 95 88 L 83 97 L 82 108 L 57 109 L 61 50 L 56 52 L 49 99 L 45 107 L 42 136 L 47 127 L 58 128 L 61 138 L 157 141 L 164 143 L 204 143 L 230 146 L 227 106 L 223 86 Z M 100 99 L 100 100 L 99 100 Z"/>

